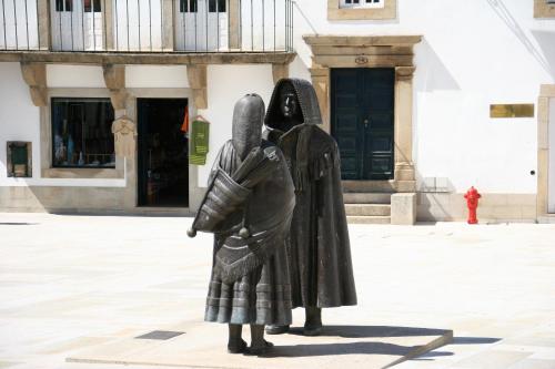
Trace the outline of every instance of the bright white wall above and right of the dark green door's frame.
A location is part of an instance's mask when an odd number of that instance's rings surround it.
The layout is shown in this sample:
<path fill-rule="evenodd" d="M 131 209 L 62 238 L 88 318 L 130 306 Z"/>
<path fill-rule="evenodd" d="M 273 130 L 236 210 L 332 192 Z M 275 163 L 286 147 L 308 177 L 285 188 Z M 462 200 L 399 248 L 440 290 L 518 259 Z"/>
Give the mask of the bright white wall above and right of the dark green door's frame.
<path fill-rule="evenodd" d="M 300 0 L 320 34 L 422 34 L 415 47 L 414 152 L 418 180 L 447 177 L 456 192 L 535 193 L 536 119 L 490 119 L 491 103 L 535 103 L 555 75 L 555 22 L 533 0 L 397 0 L 397 19 L 326 20 L 326 1 Z M 295 49 L 311 64 L 295 11 Z M 299 65 L 295 66 L 299 73 Z M 301 73 L 299 73 L 301 74 Z"/>

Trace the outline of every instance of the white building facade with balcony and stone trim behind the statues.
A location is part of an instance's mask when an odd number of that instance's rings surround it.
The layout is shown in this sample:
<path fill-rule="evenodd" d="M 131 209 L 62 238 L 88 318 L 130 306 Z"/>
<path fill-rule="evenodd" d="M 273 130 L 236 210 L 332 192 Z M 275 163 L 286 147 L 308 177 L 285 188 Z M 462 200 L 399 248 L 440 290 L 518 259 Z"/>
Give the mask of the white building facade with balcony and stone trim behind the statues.
<path fill-rule="evenodd" d="M 141 1 L 6 2 L 0 211 L 191 214 L 235 101 L 291 76 L 316 90 L 352 222 L 465 219 L 471 186 L 483 222 L 554 219 L 548 0 Z M 204 165 L 185 112 L 209 122 Z"/>

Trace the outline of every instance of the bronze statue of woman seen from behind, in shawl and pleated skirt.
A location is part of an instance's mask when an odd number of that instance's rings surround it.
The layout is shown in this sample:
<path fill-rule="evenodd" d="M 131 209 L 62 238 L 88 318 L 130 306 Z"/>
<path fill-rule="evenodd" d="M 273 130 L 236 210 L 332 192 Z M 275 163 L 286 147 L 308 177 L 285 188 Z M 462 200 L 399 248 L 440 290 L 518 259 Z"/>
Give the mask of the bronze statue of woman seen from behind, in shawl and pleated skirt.
<path fill-rule="evenodd" d="M 206 321 L 229 325 L 228 350 L 265 352 L 264 325 L 291 324 L 285 242 L 294 186 L 280 148 L 264 140 L 264 102 L 242 98 L 233 111 L 232 140 L 220 150 L 209 188 L 189 235 L 214 233 Z M 251 346 L 241 338 L 251 325 Z"/>

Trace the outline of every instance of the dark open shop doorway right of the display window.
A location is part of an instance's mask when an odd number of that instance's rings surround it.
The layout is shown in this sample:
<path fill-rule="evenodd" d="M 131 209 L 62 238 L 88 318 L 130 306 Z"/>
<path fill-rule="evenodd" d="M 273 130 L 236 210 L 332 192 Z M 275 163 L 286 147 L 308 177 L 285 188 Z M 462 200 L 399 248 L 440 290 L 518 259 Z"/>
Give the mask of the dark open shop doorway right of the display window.
<path fill-rule="evenodd" d="M 138 99 L 139 206 L 189 206 L 186 99 Z"/>

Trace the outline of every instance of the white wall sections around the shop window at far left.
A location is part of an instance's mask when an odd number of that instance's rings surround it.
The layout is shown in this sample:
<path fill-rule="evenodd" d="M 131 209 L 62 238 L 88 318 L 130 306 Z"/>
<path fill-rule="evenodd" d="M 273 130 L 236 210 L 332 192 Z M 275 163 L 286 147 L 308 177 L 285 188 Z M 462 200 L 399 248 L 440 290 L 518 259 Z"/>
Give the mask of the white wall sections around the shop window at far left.
<path fill-rule="evenodd" d="M 48 65 L 47 81 L 49 86 L 58 88 L 98 86 L 99 68 Z M 102 78 L 101 68 L 100 76 Z M 0 81 L 2 81 L 0 83 L 0 186 L 125 186 L 125 180 L 42 178 L 40 110 L 31 102 L 29 88 L 23 81 L 19 63 L 0 63 Z M 8 177 L 6 167 L 8 141 L 32 142 L 32 178 Z"/>

